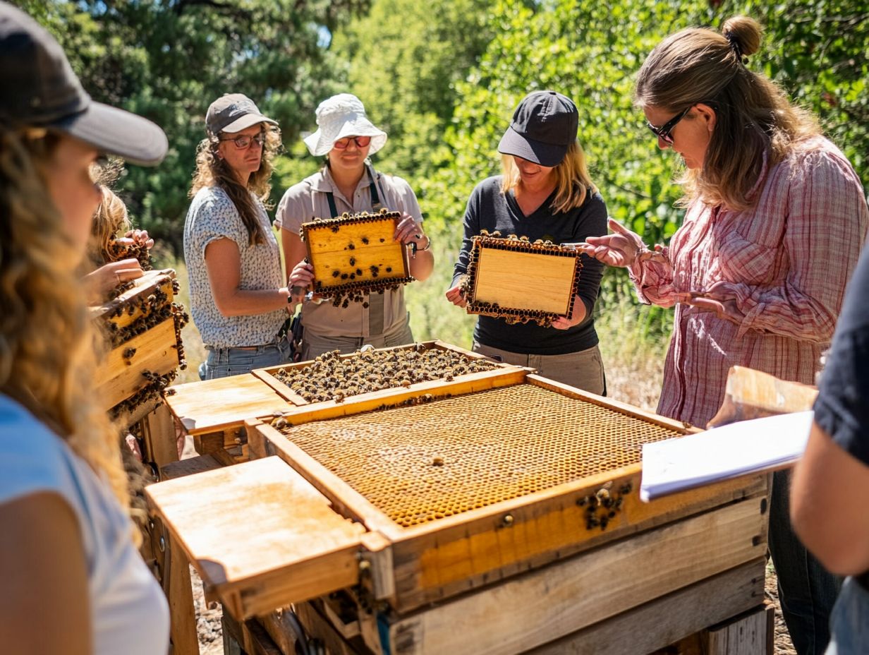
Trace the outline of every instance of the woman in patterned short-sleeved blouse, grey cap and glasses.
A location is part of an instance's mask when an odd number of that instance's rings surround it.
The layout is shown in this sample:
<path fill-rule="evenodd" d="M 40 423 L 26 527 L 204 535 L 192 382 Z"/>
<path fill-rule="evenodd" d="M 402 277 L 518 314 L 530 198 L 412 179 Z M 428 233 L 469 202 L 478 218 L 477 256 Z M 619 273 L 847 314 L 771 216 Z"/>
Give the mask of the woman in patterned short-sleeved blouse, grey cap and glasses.
<path fill-rule="evenodd" d="M 281 144 L 276 126 L 240 93 L 218 98 L 205 118 L 184 224 L 190 314 L 209 352 L 203 380 L 292 357 L 282 328 L 296 302 L 265 208 Z"/>

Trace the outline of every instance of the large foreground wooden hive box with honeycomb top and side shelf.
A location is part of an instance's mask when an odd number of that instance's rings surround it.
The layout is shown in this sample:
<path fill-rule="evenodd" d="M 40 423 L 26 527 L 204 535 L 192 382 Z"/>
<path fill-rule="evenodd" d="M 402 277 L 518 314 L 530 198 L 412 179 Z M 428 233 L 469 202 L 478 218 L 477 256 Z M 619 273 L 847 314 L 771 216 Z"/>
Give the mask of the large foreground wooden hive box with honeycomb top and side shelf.
<path fill-rule="evenodd" d="M 255 461 L 149 487 L 209 598 L 352 588 L 401 655 L 524 652 L 698 585 L 720 618 L 762 599 L 765 476 L 640 502 L 641 444 L 689 426 L 534 375 L 395 405 L 251 420 Z"/>

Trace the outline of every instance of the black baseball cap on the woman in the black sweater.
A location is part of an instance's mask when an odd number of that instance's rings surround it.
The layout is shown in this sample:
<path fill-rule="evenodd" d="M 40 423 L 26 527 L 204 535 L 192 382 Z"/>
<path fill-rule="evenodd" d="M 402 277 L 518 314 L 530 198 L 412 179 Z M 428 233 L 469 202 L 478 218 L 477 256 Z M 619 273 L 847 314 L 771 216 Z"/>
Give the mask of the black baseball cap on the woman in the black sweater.
<path fill-rule="evenodd" d="M 557 166 L 576 140 L 579 124 L 580 113 L 570 98 L 555 91 L 534 91 L 516 107 L 498 151 L 541 166 Z"/>

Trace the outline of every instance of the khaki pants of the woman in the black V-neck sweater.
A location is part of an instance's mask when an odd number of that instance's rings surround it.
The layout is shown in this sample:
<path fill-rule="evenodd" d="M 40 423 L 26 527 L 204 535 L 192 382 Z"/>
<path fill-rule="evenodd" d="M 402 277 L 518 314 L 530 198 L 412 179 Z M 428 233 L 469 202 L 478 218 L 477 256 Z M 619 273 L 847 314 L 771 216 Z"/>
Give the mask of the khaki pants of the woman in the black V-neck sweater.
<path fill-rule="evenodd" d="M 507 364 L 530 366 L 544 378 L 569 384 L 572 387 L 607 395 L 607 378 L 603 370 L 600 349 L 595 345 L 586 351 L 568 352 L 564 355 L 523 355 L 520 352 L 502 351 L 474 341 L 474 352 Z"/>

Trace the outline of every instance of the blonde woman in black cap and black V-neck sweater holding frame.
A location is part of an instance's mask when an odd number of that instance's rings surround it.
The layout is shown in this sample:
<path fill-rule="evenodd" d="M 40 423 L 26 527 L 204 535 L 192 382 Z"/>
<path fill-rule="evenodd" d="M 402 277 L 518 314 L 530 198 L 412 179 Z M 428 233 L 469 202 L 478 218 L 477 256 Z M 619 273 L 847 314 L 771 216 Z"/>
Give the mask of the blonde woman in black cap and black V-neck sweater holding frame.
<path fill-rule="evenodd" d="M 465 211 L 465 238 L 447 298 L 465 307 L 461 280 L 468 271 L 472 238 L 481 231 L 515 234 L 531 241 L 577 243 L 607 233 L 607 207 L 588 176 L 576 132 L 579 112 L 555 91 L 528 94 L 498 146 L 503 175 L 474 189 Z M 607 383 L 594 331 L 594 302 L 603 266 L 582 256 L 582 275 L 573 316 L 551 327 L 507 324 L 481 316 L 474 329 L 474 351 L 510 364 L 532 366 L 547 378 L 605 395 Z M 528 294 L 534 294 L 534 272 Z"/>

